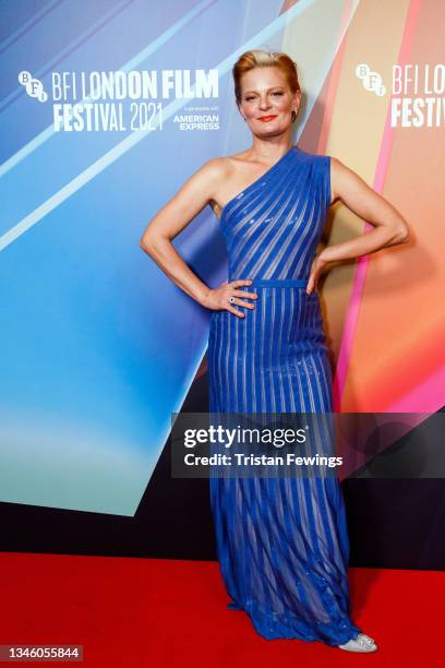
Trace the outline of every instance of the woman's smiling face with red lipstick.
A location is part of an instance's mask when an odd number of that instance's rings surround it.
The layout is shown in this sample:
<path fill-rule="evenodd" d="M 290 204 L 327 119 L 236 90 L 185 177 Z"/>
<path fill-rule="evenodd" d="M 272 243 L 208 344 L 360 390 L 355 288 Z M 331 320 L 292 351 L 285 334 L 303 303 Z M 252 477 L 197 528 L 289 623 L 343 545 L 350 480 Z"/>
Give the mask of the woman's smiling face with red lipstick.
<path fill-rule="evenodd" d="M 299 92 L 292 94 L 286 75 L 277 67 L 254 68 L 241 79 L 240 111 L 252 132 L 260 136 L 281 134 L 298 112 Z"/>

